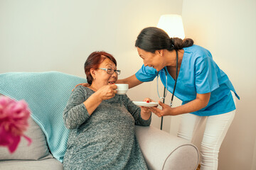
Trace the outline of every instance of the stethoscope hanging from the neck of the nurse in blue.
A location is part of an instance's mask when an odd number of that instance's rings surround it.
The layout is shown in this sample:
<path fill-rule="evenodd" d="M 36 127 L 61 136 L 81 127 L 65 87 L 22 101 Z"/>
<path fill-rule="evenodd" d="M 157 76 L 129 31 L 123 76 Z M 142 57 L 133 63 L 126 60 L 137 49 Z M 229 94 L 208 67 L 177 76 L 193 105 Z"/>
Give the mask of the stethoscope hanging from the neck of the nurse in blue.
<path fill-rule="evenodd" d="M 176 51 L 176 78 L 175 78 L 175 84 L 174 84 L 174 91 L 172 93 L 172 96 L 171 96 L 171 103 L 170 103 L 170 106 L 172 106 L 172 102 L 174 101 L 174 92 L 175 92 L 175 89 L 176 89 L 176 84 L 177 84 L 177 79 L 178 79 L 178 51 Z M 161 71 L 159 71 L 161 72 Z M 167 95 L 167 71 L 166 69 L 164 68 L 164 72 L 165 72 L 165 76 L 166 76 L 166 86 L 164 87 L 164 97 L 160 97 L 159 95 L 159 83 L 158 83 L 158 78 L 159 78 L 159 72 L 157 72 L 157 77 L 156 77 L 156 81 L 157 81 L 157 94 L 159 96 L 160 99 L 163 99 L 163 103 L 164 103 L 164 100 L 166 98 L 166 95 Z"/>

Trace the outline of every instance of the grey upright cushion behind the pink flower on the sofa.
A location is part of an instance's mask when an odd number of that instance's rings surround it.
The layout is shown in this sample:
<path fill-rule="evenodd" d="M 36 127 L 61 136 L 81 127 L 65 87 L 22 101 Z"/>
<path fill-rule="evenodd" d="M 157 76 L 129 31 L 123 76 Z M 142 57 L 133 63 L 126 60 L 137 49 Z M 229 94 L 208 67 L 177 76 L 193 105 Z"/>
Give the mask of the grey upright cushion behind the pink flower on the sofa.
<path fill-rule="evenodd" d="M 13 154 L 9 152 L 7 147 L 0 147 L 0 160 L 41 160 L 53 158 L 46 143 L 46 136 L 44 135 L 41 128 L 32 118 L 28 119 L 28 124 L 29 127 L 28 130 L 26 130 L 25 135 L 31 138 L 31 145 L 28 146 L 28 141 L 21 137 L 21 142 L 18 144 L 18 148 Z"/>

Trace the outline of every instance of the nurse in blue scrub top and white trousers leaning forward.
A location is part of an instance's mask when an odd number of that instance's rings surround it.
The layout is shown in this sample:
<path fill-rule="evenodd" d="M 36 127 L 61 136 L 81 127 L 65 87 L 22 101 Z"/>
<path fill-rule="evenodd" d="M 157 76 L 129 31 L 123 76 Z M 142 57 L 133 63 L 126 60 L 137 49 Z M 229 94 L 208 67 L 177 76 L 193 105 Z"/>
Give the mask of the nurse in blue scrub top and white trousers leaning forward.
<path fill-rule="evenodd" d="M 203 120 L 206 129 L 201 142 L 201 169 L 218 169 L 220 145 L 235 116 L 235 96 L 228 76 L 213 61 L 208 50 L 193 45 L 193 40 L 169 38 L 164 30 L 149 27 L 139 33 L 135 46 L 144 65 L 139 71 L 117 83 L 129 88 L 153 81 L 157 75 L 171 93 L 183 101 L 171 107 L 159 101 L 161 108 L 150 108 L 159 117 L 181 115 L 178 137 L 193 140 Z"/>

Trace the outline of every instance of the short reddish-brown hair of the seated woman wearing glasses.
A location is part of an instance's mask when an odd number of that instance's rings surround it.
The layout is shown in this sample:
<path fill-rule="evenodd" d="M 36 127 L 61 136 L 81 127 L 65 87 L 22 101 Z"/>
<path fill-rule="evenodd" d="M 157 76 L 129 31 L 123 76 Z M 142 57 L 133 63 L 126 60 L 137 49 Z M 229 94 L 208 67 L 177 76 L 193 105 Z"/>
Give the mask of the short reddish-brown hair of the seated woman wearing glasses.
<path fill-rule="evenodd" d="M 85 61 L 85 74 L 88 84 L 92 84 L 93 77 L 90 74 L 90 69 L 97 69 L 106 58 L 110 59 L 114 64 L 117 66 L 117 61 L 114 59 L 112 55 L 110 55 L 107 52 L 104 51 L 96 51 L 92 52 L 92 54 L 87 57 L 87 60 Z"/>

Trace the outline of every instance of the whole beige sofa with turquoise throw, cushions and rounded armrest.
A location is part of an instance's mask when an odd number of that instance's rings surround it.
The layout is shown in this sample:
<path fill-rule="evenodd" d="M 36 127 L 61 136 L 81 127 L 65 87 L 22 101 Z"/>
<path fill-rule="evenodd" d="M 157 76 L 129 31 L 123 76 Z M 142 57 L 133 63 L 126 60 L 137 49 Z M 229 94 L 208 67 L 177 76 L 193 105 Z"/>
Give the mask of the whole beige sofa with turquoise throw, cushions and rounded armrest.
<path fill-rule="evenodd" d="M 0 147 L 0 169 L 63 169 L 68 131 L 62 111 L 71 89 L 85 81 L 60 72 L 0 74 L 0 94 L 24 99 L 31 108 L 25 134 L 32 139 L 29 147 L 21 140 L 14 154 Z M 152 126 L 136 126 L 135 133 L 149 169 L 197 168 L 198 149 L 190 142 Z"/>

